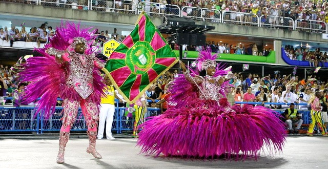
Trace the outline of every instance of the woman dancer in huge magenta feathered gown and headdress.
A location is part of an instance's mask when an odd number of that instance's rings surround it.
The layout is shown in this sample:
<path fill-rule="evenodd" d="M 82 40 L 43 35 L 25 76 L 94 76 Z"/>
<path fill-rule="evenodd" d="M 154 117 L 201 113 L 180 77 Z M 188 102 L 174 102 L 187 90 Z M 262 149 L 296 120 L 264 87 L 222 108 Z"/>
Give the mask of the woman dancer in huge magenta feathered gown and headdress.
<path fill-rule="evenodd" d="M 263 145 L 271 153 L 282 150 L 285 129 L 278 113 L 247 104 L 231 107 L 224 96 L 232 74 L 216 67 L 216 57 L 200 52 L 199 75 L 181 62 L 184 77 L 176 78 L 171 89 L 176 106 L 142 125 L 137 141 L 142 153 L 257 159 Z"/>

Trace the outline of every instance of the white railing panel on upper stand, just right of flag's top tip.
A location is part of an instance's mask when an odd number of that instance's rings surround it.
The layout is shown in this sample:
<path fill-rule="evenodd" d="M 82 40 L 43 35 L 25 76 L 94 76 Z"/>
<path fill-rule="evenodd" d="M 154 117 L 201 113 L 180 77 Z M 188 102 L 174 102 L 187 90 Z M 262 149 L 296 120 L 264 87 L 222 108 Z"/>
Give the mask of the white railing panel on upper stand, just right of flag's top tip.
<path fill-rule="evenodd" d="M 139 2 L 137 5 L 137 11 L 140 13 L 144 10 L 147 14 L 152 16 L 181 16 L 181 9 L 177 5 L 165 5 L 152 2 Z"/>

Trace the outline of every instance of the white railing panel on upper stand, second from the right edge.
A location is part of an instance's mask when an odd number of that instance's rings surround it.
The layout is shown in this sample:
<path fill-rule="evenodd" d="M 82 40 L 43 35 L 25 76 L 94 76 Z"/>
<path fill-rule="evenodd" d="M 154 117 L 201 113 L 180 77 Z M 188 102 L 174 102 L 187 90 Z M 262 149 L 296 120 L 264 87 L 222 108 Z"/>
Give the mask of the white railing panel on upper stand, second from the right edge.
<path fill-rule="evenodd" d="M 292 18 L 270 15 L 260 16 L 260 27 L 295 29 L 294 20 Z"/>

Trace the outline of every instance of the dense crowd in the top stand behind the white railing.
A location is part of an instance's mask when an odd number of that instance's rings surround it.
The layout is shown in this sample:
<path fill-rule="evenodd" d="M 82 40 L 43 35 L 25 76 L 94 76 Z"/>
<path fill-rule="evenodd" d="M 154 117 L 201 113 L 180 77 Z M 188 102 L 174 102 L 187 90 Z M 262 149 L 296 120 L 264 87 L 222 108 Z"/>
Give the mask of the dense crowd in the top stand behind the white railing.
<path fill-rule="evenodd" d="M 35 1 L 14 1 L 14 0 L 5 0 L 8 2 L 16 2 L 16 3 L 35 3 Z M 138 4 L 139 2 L 151 2 L 151 3 L 159 3 L 153 5 L 145 5 L 145 11 L 153 11 L 159 13 L 166 12 L 173 12 L 174 10 L 170 5 L 176 5 L 179 7 L 196 7 L 196 8 L 207 8 L 218 10 L 220 12 L 226 11 L 234 11 L 234 12 L 243 12 L 243 13 L 250 13 L 253 15 L 261 16 L 280 16 L 280 17 L 291 17 L 294 20 L 296 19 L 305 19 L 305 20 L 321 20 L 325 23 L 328 23 L 328 4 L 327 1 L 324 0 L 133 0 L 134 4 Z M 46 2 L 58 3 L 57 5 L 52 5 Z M 67 5 L 60 5 L 61 4 L 69 4 L 72 6 Z M 121 0 L 109 0 L 109 1 L 97 1 L 92 0 L 91 4 L 94 7 L 101 7 L 101 8 L 113 8 L 115 9 L 126 9 L 126 10 L 134 10 L 136 5 L 133 4 L 131 0 L 121 1 Z M 115 5 L 114 5 L 115 4 Z M 163 4 L 163 5 L 160 5 Z M 52 1 L 45 1 L 44 4 L 46 6 L 57 6 L 57 7 L 66 7 L 66 8 L 79 8 L 78 5 L 87 6 L 88 1 L 75 1 L 75 0 L 52 0 Z M 170 8 L 169 10 L 167 8 Z M 96 10 L 96 9 L 95 9 Z M 112 12 L 112 11 L 111 11 Z M 118 11 L 117 11 L 118 12 Z M 121 11 L 123 12 L 123 11 Z M 197 12 L 193 11 L 192 9 L 186 12 L 187 15 L 199 15 Z M 202 13 L 205 15 L 205 13 Z M 215 15 L 215 12 L 210 12 L 208 15 Z M 237 19 L 242 17 L 242 21 L 248 22 L 252 20 L 252 16 L 245 16 L 241 14 L 232 14 L 230 15 L 232 19 Z M 281 20 L 271 19 L 272 23 L 280 23 Z M 283 22 L 281 22 L 283 23 Z M 305 21 L 306 23 L 306 21 Z M 321 25 L 324 26 L 324 25 Z M 320 27 L 318 25 L 318 27 Z"/>

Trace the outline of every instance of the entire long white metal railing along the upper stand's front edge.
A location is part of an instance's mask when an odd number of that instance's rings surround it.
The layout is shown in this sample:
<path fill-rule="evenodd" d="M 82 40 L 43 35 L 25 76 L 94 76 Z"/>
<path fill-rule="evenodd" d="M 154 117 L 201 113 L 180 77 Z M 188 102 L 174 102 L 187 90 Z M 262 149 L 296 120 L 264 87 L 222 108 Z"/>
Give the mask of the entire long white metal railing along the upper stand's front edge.
<path fill-rule="evenodd" d="M 139 2 L 137 4 L 136 0 L 20 0 L 7 2 L 35 4 L 58 8 L 71 8 L 131 14 L 139 14 L 141 11 L 144 10 L 146 13 L 152 16 L 171 15 L 179 17 L 189 17 L 192 19 L 224 24 L 238 24 L 268 28 L 285 28 L 297 31 L 318 33 L 328 32 L 327 24 L 320 20 L 293 20 L 290 17 L 263 15 L 259 17 L 258 15 L 253 13 L 243 13 L 234 11 L 226 11 L 221 13 L 220 11 L 217 11 L 215 9 L 196 8 L 189 6 L 179 7 L 177 5 L 168 5 L 152 2 Z"/>

